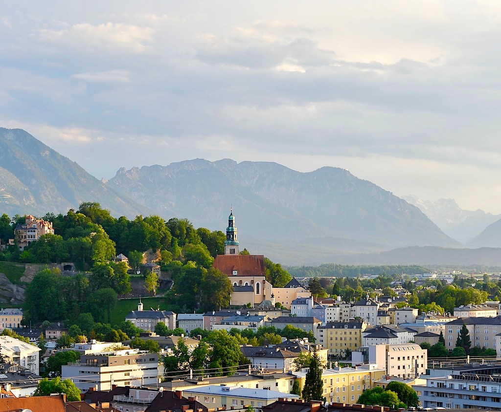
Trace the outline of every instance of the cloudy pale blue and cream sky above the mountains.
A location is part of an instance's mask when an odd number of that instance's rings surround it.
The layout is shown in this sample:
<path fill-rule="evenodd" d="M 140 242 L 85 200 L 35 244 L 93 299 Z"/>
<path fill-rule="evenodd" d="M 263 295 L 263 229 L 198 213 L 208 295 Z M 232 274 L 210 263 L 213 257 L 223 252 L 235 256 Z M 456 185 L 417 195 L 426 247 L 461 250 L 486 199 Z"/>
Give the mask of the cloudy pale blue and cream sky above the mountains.
<path fill-rule="evenodd" d="M 501 213 L 497 0 L 4 0 L 0 39 L 0 127 L 99 179 L 332 166 Z"/>

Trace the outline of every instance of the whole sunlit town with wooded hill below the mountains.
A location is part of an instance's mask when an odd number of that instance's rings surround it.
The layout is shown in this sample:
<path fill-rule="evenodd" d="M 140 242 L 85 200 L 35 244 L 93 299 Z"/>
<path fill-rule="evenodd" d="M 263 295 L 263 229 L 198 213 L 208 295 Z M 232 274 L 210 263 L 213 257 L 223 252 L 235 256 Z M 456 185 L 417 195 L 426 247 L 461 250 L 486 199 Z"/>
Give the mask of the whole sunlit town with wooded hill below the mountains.
<path fill-rule="evenodd" d="M 499 273 L 294 277 L 242 248 L 232 209 L 222 225 L 0 217 L 11 410 L 498 408 Z"/>

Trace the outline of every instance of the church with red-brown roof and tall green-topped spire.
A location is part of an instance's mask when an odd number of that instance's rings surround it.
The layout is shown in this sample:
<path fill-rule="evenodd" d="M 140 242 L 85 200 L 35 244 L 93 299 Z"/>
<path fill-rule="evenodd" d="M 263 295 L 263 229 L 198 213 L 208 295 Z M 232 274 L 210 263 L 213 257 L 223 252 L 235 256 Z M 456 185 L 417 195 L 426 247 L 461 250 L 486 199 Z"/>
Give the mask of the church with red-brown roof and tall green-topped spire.
<path fill-rule="evenodd" d="M 226 228 L 224 255 L 217 255 L 213 267 L 229 277 L 233 286 L 231 305 L 274 305 L 272 284 L 266 280 L 263 255 L 240 255 L 235 217 L 231 208 Z"/>

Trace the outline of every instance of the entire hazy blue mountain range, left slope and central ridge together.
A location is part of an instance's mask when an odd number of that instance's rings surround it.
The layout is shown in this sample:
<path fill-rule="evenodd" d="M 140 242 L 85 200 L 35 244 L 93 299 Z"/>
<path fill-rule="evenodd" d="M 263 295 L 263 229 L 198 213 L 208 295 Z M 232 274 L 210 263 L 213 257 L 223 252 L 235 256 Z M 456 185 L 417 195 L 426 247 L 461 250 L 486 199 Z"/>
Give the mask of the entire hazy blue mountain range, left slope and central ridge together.
<path fill-rule="evenodd" d="M 24 130 L 0 128 L 0 213 L 66 213 L 84 201 L 99 202 L 116 217 L 186 217 L 195 227 L 222 231 L 232 206 L 241 248 L 287 264 L 385 256 L 384 263 L 392 263 L 399 252 L 389 253 L 391 249 L 406 251 L 400 253 L 406 259 L 422 259 L 405 263 L 425 263 L 419 253 L 409 255 L 406 248 L 414 246 L 428 255 L 428 246 L 432 254 L 458 248 L 470 253 L 444 233 L 452 223 L 442 231 L 437 221 L 443 222 L 436 217 L 433 222 L 422 205 L 416 207 L 345 169 L 302 173 L 271 162 L 194 159 L 122 168 L 105 182 Z M 490 215 L 485 221 L 492 219 Z"/>

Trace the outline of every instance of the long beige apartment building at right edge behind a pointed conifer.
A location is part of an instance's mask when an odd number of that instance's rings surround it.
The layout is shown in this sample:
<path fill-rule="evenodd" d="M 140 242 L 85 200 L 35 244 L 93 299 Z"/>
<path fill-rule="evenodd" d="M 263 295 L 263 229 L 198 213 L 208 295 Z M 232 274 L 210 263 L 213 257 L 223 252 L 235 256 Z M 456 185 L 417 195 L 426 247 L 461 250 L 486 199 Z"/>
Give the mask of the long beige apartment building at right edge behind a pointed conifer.
<path fill-rule="evenodd" d="M 456 346 L 457 334 L 463 323 L 469 331 L 471 346 L 483 346 L 499 350 L 499 336 L 501 332 L 501 316 L 496 317 L 466 317 L 459 318 L 445 324 L 443 336 L 445 347 L 449 350 Z"/>

